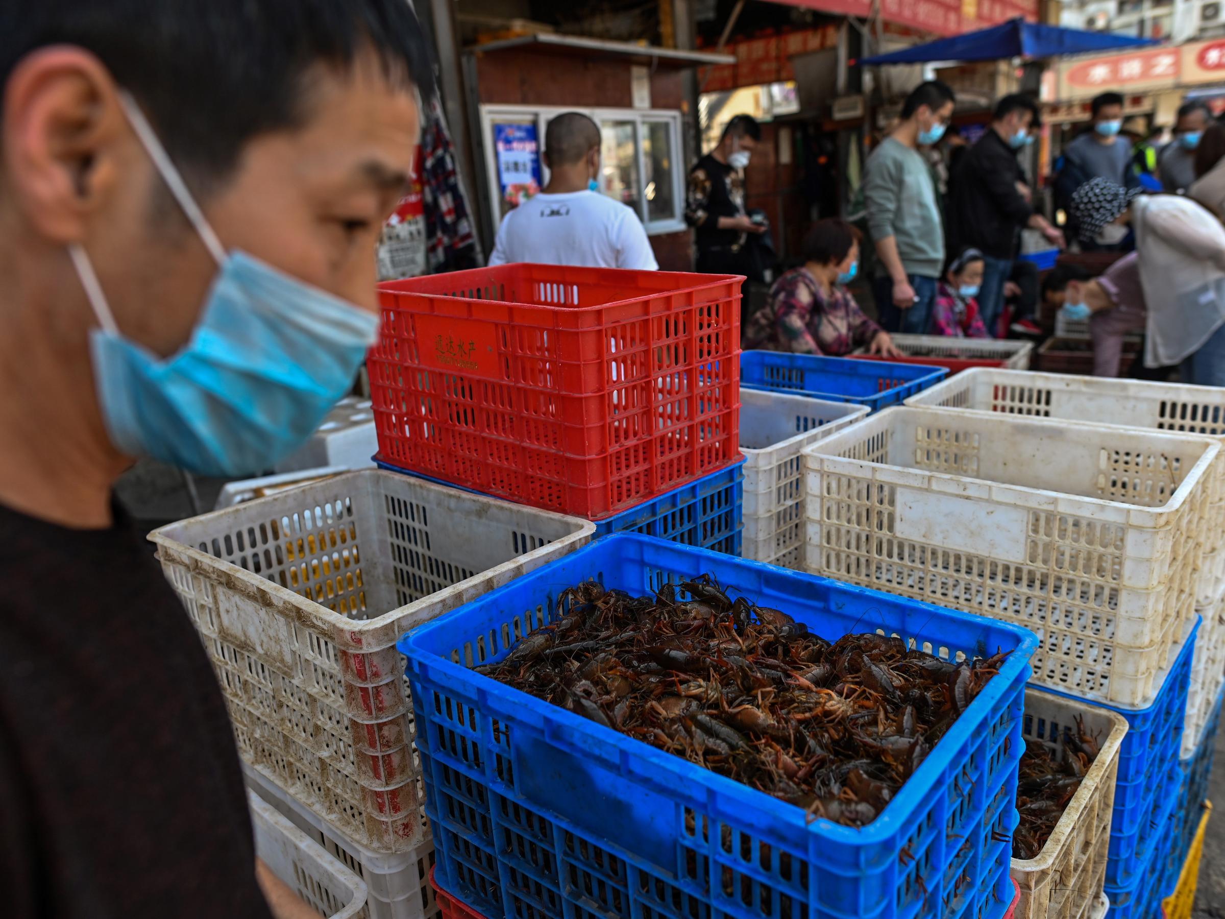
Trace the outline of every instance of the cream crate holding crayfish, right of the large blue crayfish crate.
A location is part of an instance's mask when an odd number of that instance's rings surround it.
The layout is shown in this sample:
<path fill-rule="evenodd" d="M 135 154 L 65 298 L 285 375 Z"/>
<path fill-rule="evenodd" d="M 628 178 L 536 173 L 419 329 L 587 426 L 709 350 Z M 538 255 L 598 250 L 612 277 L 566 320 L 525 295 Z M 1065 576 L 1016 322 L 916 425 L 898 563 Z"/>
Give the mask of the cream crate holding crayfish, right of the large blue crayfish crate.
<path fill-rule="evenodd" d="M 1055 756 L 1063 752 L 1066 732 L 1077 730 L 1078 716 L 1085 730 L 1096 736 L 1098 758 L 1038 858 L 1012 860 L 1012 880 L 1020 890 L 1017 919 L 1089 919 L 1102 896 L 1127 719 L 1088 702 L 1025 690 L 1022 733 L 1027 740 L 1040 740 Z"/>

